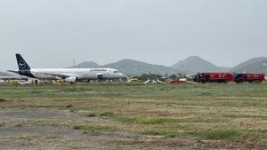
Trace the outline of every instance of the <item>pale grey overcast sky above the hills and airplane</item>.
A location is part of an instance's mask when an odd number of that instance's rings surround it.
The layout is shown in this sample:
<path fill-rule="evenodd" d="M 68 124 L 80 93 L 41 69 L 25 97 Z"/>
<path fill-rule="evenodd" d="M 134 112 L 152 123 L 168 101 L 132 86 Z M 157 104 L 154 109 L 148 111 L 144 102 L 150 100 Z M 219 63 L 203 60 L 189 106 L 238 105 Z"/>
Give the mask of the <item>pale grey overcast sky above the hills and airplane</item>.
<path fill-rule="evenodd" d="M 0 70 L 119 59 L 218 66 L 267 56 L 266 0 L 0 0 Z"/>

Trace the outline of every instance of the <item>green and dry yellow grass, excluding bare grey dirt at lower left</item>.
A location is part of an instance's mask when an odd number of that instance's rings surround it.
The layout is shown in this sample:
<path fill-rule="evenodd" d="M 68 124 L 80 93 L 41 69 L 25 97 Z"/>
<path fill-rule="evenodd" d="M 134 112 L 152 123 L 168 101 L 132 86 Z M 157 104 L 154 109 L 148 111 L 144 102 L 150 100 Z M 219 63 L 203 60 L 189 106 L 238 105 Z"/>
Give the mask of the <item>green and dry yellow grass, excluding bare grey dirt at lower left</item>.
<path fill-rule="evenodd" d="M 180 147 L 177 143 L 181 139 L 187 140 L 189 145 L 185 147 L 190 148 L 266 146 L 267 84 L 264 83 L 3 85 L 0 98 L 8 100 L 1 103 L 2 110 L 42 107 L 69 110 L 75 115 L 69 122 L 64 118 L 40 118 L 28 122 L 31 126 L 65 127 L 97 132 L 98 136 L 118 132 L 134 135 L 134 138 L 118 136 L 115 141 L 106 138 L 104 146 L 117 143 L 115 147 L 153 147 L 142 142 L 148 138 L 166 143 L 158 146 Z"/>

